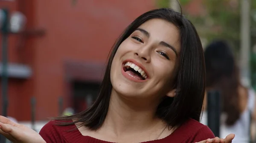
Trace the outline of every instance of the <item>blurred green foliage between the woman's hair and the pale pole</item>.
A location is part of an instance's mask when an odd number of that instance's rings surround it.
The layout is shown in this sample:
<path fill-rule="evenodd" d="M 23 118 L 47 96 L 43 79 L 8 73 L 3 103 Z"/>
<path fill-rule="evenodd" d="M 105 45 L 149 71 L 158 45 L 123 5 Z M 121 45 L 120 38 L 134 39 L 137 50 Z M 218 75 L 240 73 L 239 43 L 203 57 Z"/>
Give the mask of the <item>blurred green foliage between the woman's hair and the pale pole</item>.
<path fill-rule="evenodd" d="M 201 37 L 208 41 L 225 39 L 237 52 L 240 49 L 240 11 L 239 6 L 229 5 L 230 0 L 204 0 L 206 14 L 191 16 Z M 189 15 L 189 13 L 187 13 Z M 198 23 L 198 18 L 201 23 Z"/>

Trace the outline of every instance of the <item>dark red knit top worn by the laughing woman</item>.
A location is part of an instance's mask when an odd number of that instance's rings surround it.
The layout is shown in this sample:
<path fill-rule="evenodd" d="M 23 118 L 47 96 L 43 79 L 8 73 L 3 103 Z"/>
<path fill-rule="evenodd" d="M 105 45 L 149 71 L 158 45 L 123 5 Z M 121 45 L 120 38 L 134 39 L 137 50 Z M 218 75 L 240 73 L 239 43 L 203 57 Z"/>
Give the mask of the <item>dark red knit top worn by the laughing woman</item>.
<path fill-rule="evenodd" d="M 55 121 L 47 123 L 40 131 L 40 135 L 47 143 L 111 143 L 89 136 L 83 136 L 75 125 L 56 126 Z M 208 138 L 214 138 L 212 131 L 196 120 L 189 119 L 169 136 L 143 143 L 195 143 Z"/>

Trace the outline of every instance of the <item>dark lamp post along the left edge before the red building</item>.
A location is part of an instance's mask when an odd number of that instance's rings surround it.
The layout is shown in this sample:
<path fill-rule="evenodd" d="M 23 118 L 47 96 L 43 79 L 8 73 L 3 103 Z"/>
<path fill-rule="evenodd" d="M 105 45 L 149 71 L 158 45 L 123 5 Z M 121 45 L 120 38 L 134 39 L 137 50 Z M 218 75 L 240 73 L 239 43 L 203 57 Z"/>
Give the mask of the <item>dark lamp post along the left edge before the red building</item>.
<path fill-rule="evenodd" d="M 8 63 L 8 32 L 9 32 L 9 11 L 8 9 L 3 9 L 3 13 L 5 18 L 3 20 L 3 27 L 2 27 L 2 115 L 7 117 L 7 108 L 8 108 L 8 73 L 7 73 L 7 63 Z M 6 138 L 1 136 L 1 143 L 6 143 Z"/>

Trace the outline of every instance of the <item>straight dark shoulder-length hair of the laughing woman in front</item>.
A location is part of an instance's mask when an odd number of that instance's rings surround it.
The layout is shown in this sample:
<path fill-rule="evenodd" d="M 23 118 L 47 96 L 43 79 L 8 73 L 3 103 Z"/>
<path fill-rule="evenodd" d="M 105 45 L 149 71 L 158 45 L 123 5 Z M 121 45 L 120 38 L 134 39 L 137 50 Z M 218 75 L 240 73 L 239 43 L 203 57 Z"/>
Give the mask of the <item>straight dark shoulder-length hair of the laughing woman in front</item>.
<path fill-rule="evenodd" d="M 63 122 L 60 125 L 67 126 L 74 123 L 81 123 L 89 129 L 99 129 L 108 114 L 108 106 L 111 96 L 110 71 L 113 57 L 119 45 L 128 38 L 141 24 L 148 20 L 159 18 L 173 23 L 180 31 L 180 60 L 178 73 L 176 75 L 175 87 L 179 89 L 175 97 L 164 97 L 157 107 L 156 115 L 164 120 L 169 127 L 180 125 L 187 119 L 197 121 L 201 117 L 201 109 L 204 100 L 205 89 L 205 65 L 204 51 L 200 38 L 195 27 L 181 13 L 172 9 L 154 9 L 137 17 L 121 34 L 114 44 L 106 67 L 99 95 L 93 105 L 78 114 L 68 117 L 57 117 L 55 120 L 74 122 Z"/>

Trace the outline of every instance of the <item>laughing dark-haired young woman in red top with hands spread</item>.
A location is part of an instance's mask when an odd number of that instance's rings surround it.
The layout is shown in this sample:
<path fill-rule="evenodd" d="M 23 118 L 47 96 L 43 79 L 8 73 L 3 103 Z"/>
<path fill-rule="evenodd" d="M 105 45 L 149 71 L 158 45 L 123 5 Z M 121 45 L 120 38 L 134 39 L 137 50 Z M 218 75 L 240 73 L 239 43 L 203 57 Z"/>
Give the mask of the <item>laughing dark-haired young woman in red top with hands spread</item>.
<path fill-rule="evenodd" d="M 194 26 L 172 9 L 155 9 L 116 41 L 93 106 L 55 118 L 41 136 L 1 117 L 0 133 L 17 143 L 230 143 L 234 134 L 212 139 L 199 123 L 204 84 Z"/>

